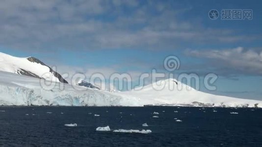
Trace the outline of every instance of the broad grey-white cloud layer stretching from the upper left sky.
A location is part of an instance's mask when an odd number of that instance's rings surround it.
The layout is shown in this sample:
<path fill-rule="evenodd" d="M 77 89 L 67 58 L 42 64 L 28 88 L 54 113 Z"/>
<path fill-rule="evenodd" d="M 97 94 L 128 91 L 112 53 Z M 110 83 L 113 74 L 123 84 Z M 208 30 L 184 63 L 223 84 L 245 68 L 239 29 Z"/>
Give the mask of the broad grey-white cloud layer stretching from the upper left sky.
<path fill-rule="evenodd" d="M 0 46 L 29 50 L 163 49 L 175 48 L 181 42 L 256 39 L 178 19 L 191 8 L 174 9 L 172 3 L 163 1 L 143 5 L 137 0 L 2 0 Z"/>

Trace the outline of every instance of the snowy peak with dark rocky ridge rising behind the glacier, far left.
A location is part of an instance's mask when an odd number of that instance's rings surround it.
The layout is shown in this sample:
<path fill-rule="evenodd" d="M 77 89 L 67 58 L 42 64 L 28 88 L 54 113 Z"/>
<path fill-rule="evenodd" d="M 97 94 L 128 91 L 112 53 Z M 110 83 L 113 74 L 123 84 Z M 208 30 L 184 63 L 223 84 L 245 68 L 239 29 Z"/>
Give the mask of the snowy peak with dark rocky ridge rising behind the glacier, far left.
<path fill-rule="evenodd" d="M 19 58 L 0 52 L 0 71 L 68 83 L 59 73 L 34 57 Z"/>

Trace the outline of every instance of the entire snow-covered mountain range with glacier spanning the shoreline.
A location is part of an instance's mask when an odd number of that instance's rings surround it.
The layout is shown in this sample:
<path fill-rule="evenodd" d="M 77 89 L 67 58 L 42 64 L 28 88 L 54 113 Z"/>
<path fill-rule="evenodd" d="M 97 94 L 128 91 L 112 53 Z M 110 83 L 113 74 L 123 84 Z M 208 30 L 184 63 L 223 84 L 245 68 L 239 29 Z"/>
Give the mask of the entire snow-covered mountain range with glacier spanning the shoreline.
<path fill-rule="evenodd" d="M 39 78 L 52 89 L 44 87 Z M 84 80 L 70 85 L 34 57 L 0 53 L 0 105 L 262 107 L 260 100 L 207 94 L 176 79 L 160 80 L 138 89 L 112 93 Z"/>

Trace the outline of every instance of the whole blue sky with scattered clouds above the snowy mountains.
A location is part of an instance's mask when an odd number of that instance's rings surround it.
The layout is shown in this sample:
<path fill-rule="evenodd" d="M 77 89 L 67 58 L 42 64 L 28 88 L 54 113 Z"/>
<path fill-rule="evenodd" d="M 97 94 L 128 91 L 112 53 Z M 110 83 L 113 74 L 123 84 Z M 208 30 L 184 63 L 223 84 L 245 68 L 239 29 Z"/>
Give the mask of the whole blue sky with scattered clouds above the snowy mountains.
<path fill-rule="evenodd" d="M 262 99 L 261 0 L 6 0 L 0 4 L 0 51 L 34 56 L 60 73 L 106 75 L 163 69 L 216 73 L 216 91 Z M 211 20 L 210 9 L 252 9 L 252 20 Z"/>

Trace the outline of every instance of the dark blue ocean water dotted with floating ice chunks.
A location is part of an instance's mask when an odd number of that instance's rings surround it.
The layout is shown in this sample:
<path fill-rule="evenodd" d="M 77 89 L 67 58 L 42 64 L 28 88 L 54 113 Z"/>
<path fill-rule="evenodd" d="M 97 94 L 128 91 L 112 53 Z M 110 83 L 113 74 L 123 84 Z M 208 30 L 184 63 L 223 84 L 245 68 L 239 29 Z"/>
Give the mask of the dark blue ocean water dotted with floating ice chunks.
<path fill-rule="evenodd" d="M 78 126 L 64 126 L 68 123 Z M 143 127 L 143 123 L 149 126 Z M 107 125 L 111 130 L 149 129 L 152 133 L 96 131 Z M 262 109 L 0 107 L 0 147 L 93 146 L 262 147 Z"/>

